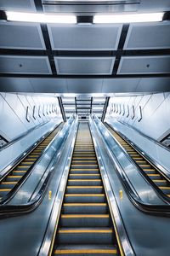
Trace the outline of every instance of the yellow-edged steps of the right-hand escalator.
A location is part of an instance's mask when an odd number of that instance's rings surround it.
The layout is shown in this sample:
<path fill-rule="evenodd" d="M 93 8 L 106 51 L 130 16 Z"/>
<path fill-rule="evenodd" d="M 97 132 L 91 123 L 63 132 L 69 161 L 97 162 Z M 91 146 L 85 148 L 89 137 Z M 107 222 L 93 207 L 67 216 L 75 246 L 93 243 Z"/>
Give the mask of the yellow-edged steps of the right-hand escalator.
<path fill-rule="evenodd" d="M 139 169 L 144 173 L 146 177 L 150 178 L 150 181 L 153 185 L 156 185 L 156 188 L 161 190 L 161 193 L 167 198 L 170 197 L 170 180 L 168 177 L 163 175 L 163 173 L 153 166 L 149 160 L 144 157 L 144 154 L 140 153 L 139 150 L 135 149 L 132 144 L 130 144 L 126 138 L 122 137 L 120 133 L 114 131 L 110 125 L 105 123 L 106 128 L 111 132 L 113 137 L 116 138 L 118 143 L 122 145 L 127 151 L 127 154 L 133 159 L 136 165 L 139 166 Z"/>

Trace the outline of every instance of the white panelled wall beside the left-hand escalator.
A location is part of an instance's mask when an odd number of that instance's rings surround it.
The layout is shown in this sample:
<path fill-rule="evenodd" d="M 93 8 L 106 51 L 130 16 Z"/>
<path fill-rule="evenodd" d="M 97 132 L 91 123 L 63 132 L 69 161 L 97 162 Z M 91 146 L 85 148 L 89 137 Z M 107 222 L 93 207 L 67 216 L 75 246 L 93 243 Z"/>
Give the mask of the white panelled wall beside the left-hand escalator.
<path fill-rule="evenodd" d="M 35 119 L 32 116 L 34 106 Z M 30 122 L 26 120 L 27 107 Z M 60 119 L 61 113 L 58 99 L 54 96 L 0 93 L 0 135 L 8 141 L 57 117 Z"/>

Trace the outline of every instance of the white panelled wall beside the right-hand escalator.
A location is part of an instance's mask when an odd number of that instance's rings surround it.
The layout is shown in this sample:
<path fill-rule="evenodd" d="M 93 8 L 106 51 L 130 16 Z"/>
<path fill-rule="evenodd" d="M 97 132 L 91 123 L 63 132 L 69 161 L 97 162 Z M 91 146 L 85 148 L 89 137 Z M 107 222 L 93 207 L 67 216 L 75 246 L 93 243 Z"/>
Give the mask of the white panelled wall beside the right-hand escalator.
<path fill-rule="evenodd" d="M 139 106 L 142 112 L 140 121 Z M 123 123 L 142 131 L 147 136 L 160 140 L 170 133 L 170 92 L 111 97 L 105 120 L 108 117 L 121 120 Z"/>

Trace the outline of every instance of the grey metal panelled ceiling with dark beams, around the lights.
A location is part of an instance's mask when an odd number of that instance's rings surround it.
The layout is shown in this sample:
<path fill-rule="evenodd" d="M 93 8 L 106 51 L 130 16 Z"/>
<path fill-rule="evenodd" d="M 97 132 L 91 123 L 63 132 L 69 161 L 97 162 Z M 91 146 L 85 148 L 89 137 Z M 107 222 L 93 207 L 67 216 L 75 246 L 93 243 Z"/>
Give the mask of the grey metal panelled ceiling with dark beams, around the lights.
<path fill-rule="evenodd" d="M 0 9 L 74 13 L 80 20 L 76 25 L 0 21 L 0 91 L 111 94 L 170 90 L 170 21 L 84 22 L 96 13 L 168 11 L 169 0 L 0 0 Z"/>

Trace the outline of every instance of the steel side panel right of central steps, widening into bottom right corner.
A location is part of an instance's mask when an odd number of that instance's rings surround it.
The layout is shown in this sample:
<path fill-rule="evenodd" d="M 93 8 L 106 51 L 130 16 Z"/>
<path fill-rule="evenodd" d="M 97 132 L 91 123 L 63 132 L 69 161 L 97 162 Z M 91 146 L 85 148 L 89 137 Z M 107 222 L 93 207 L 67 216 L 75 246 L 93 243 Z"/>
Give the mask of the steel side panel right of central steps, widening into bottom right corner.
<path fill-rule="evenodd" d="M 133 206 L 115 172 L 115 167 L 111 163 L 102 137 L 97 134 L 97 131 L 95 131 L 94 137 L 98 143 L 100 155 L 111 183 L 111 189 L 114 192 L 116 204 L 135 255 L 167 255 L 170 250 L 170 223 L 168 218 L 144 214 Z M 122 199 L 120 198 L 120 190 L 122 190 Z"/>

